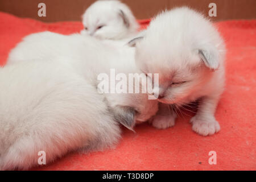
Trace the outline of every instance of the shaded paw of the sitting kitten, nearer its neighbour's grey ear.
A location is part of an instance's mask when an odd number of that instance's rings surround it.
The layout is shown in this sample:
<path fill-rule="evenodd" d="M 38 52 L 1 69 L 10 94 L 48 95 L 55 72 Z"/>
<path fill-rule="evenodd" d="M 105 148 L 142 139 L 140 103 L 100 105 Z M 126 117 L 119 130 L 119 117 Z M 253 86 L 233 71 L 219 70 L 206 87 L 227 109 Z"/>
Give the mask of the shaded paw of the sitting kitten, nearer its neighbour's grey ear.
<path fill-rule="evenodd" d="M 157 129 L 167 129 L 168 127 L 172 127 L 175 125 L 175 119 L 177 115 L 155 115 L 154 118 L 150 121 L 152 126 Z"/>

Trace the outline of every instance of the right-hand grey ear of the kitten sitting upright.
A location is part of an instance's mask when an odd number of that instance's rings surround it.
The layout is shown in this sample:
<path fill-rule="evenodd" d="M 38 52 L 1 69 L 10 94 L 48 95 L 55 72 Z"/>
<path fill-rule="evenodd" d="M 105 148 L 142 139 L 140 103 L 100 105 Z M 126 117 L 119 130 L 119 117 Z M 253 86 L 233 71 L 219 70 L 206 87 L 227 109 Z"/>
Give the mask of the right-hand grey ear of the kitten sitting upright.
<path fill-rule="evenodd" d="M 206 49 L 199 49 L 199 57 L 203 60 L 204 64 L 215 71 L 220 66 L 219 53 L 215 47 L 208 47 Z"/>

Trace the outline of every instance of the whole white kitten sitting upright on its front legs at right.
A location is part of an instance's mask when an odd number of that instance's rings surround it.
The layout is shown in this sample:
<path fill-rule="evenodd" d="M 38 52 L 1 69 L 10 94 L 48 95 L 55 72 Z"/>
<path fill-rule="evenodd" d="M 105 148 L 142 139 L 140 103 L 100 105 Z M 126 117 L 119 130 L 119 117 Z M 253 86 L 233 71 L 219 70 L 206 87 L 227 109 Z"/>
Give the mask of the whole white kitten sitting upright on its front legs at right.
<path fill-rule="evenodd" d="M 214 113 L 225 84 L 225 45 L 209 20 L 187 7 L 166 11 L 152 20 L 144 38 L 129 44 L 136 46 L 135 60 L 144 73 L 159 73 L 162 104 L 152 125 L 174 126 L 176 114 L 168 105 L 199 100 L 192 130 L 204 136 L 220 130 Z"/>

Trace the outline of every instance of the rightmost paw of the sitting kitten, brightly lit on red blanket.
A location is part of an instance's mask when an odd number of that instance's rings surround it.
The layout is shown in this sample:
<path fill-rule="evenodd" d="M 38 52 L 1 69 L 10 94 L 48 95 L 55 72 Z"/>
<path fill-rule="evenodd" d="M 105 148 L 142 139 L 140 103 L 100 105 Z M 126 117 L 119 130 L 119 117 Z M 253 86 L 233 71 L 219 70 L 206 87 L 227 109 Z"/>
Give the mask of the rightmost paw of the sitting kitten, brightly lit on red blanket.
<path fill-rule="evenodd" d="M 192 130 L 203 136 L 213 135 L 220 131 L 220 125 L 215 118 L 202 119 L 194 116 L 190 122 L 192 123 Z"/>

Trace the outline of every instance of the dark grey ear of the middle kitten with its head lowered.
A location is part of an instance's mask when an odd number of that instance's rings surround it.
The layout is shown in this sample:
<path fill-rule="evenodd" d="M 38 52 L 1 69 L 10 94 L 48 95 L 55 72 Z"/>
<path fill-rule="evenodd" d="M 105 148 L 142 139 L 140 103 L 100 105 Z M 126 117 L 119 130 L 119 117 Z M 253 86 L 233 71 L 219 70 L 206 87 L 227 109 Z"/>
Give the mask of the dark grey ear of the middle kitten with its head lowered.
<path fill-rule="evenodd" d="M 130 106 L 115 106 L 113 109 L 115 121 L 121 123 L 129 130 L 133 130 L 135 125 L 135 114 L 137 110 Z"/>

